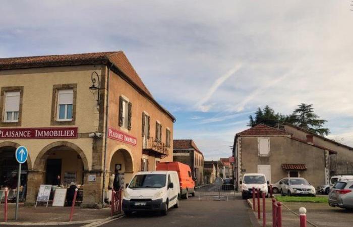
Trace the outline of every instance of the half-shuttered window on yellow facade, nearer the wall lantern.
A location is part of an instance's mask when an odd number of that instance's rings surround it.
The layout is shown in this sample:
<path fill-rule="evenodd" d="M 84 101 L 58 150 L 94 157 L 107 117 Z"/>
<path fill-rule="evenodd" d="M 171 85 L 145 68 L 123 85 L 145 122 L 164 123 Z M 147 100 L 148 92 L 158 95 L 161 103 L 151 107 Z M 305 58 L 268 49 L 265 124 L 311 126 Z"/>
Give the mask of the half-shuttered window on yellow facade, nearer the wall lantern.
<path fill-rule="evenodd" d="M 58 90 L 57 94 L 57 121 L 72 121 L 73 112 L 73 89 Z"/>

